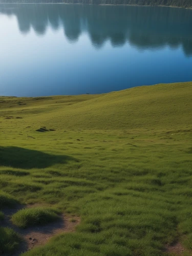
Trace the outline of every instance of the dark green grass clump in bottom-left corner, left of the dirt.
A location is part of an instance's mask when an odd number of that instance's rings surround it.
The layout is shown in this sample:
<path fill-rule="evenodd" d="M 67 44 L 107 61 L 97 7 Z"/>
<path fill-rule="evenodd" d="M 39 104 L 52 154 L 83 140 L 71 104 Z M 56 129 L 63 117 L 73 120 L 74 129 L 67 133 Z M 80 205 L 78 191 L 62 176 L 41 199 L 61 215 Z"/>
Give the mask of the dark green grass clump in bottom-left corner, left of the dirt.
<path fill-rule="evenodd" d="M 0 254 L 4 255 L 4 253 L 14 251 L 18 247 L 20 240 L 20 237 L 13 229 L 0 227 Z"/>

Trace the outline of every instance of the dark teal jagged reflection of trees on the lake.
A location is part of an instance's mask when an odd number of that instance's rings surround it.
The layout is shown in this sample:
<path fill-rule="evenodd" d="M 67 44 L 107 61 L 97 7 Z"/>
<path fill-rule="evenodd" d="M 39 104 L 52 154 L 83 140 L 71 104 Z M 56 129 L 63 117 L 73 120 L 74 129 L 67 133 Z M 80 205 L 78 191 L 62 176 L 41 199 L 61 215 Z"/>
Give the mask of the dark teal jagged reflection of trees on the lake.
<path fill-rule="evenodd" d="M 192 55 L 192 11 L 179 8 L 95 5 L 1 5 L 0 13 L 15 15 L 19 30 L 44 35 L 48 26 L 63 28 L 69 41 L 88 32 L 101 48 L 106 40 L 114 47 L 127 41 L 139 49 L 176 48 Z"/>

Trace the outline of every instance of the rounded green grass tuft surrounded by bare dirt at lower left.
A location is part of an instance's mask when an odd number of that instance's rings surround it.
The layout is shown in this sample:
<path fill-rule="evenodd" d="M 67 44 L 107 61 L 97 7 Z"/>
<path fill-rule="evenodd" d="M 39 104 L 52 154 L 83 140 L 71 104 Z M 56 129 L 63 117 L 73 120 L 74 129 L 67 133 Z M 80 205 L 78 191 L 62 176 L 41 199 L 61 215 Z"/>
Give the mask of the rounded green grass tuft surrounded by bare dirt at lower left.
<path fill-rule="evenodd" d="M 18 210 L 11 218 L 14 225 L 26 228 L 33 225 L 44 225 L 57 220 L 56 211 L 49 208 L 35 207 Z"/>

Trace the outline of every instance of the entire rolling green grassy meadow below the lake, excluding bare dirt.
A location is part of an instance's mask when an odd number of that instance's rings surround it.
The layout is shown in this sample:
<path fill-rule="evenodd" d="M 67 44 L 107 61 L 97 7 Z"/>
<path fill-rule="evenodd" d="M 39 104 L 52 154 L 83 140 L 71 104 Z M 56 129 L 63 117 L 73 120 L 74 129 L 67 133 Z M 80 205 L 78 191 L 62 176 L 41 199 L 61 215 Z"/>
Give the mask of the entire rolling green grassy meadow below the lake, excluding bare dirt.
<path fill-rule="evenodd" d="M 76 232 L 23 255 L 160 256 L 177 242 L 191 255 L 191 95 L 187 82 L 0 97 L 0 212 L 37 203 L 50 220 L 81 218 Z M 26 226 L 34 216 L 24 209 L 11 218 Z M 19 244 L 13 232 L 0 227 L 4 252 Z"/>

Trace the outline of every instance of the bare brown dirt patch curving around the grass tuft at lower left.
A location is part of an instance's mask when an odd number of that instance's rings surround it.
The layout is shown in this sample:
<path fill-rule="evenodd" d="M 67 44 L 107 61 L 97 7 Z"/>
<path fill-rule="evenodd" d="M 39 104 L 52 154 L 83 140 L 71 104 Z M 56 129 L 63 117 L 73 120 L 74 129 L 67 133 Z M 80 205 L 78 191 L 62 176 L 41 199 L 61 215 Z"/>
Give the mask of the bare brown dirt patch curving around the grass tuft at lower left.
<path fill-rule="evenodd" d="M 10 221 L 11 216 L 19 209 L 40 206 L 40 204 L 18 206 L 15 209 L 5 209 L 5 220 L 0 221 L 1 226 L 10 227 L 14 229 L 23 239 L 18 250 L 13 253 L 13 256 L 18 256 L 22 252 L 26 252 L 36 246 L 46 244 L 53 236 L 59 233 L 75 232 L 76 226 L 80 223 L 80 217 L 78 216 L 66 216 L 61 215 L 58 221 L 49 223 L 42 226 L 33 226 L 25 229 L 21 229 L 13 225 Z M 41 205 L 42 206 L 42 205 Z M 71 221 L 73 219 L 73 221 Z M 6 256 L 6 254 L 4 254 Z"/>

